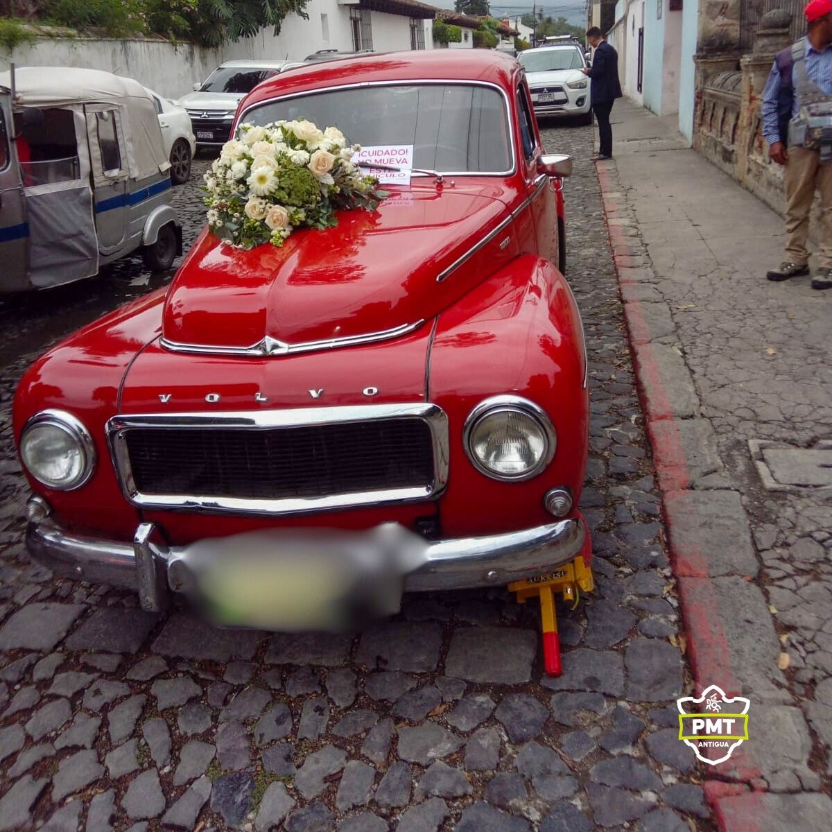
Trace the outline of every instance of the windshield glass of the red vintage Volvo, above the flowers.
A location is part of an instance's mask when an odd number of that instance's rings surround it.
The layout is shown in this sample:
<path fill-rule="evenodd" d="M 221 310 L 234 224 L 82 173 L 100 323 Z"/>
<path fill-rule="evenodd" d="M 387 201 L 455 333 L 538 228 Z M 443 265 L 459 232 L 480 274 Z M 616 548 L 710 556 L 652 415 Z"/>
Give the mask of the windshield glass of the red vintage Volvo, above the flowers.
<path fill-rule="evenodd" d="M 503 96 L 471 84 L 410 84 L 329 90 L 268 102 L 243 121 L 305 118 L 338 127 L 352 144 L 413 145 L 413 166 L 446 173 L 513 168 Z"/>

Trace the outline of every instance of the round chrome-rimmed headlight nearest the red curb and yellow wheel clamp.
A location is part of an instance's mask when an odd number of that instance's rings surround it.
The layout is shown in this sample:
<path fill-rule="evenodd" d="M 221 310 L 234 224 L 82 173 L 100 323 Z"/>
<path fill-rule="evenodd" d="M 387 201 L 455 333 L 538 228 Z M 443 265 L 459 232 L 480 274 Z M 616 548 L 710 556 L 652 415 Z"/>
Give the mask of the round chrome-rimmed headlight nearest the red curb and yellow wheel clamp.
<path fill-rule="evenodd" d="M 478 404 L 465 423 L 465 450 L 475 468 L 494 479 L 523 480 L 552 461 L 555 428 L 542 408 L 518 396 Z"/>

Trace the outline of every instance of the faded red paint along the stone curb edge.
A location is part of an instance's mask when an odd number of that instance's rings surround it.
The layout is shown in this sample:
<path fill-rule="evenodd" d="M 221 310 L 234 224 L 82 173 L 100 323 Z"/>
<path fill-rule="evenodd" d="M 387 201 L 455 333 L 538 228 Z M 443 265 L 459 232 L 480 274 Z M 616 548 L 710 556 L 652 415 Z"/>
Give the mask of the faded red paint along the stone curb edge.
<path fill-rule="evenodd" d="M 607 166 L 597 167 L 598 182 L 604 192 L 615 192 L 611 187 L 611 176 Z M 624 235 L 620 226 L 610 226 L 612 212 L 607 211 L 611 201 L 604 202 L 607 230 L 616 274 L 621 285 L 632 285 L 634 280 L 622 280 L 622 268 L 641 265 L 641 257 L 620 254 Z M 622 203 L 624 200 L 622 200 Z M 618 203 L 616 203 L 616 206 Z M 638 260 L 634 263 L 634 260 Z M 653 448 L 656 477 L 665 503 L 673 499 L 672 492 L 688 488 L 691 483 L 690 469 L 681 443 L 678 420 L 671 414 L 670 397 L 661 380 L 661 372 L 651 347 L 650 327 L 641 307 L 641 301 L 624 298 L 624 319 L 630 339 L 633 355 L 633 368 L 636 373 L 641 406 L 649 418 L 646 418 L 646 432 Z M 650 393 L 647 394 L 646 388 Z M 665 522 L 669 527 L 667 515 Z M 687 547 L 684 557 L 680 557 L 670 546 L 671 568 L 679 590 L 682 621 L 687 635 L 687 652 L 691 662 L 691 671 L 696 681 L 696 693 L 699 694 L 709 685 L 719 685 L 727 696 L 738 693 L 737 676 L 729 666 L 730 653 L 728 639 L 722 628 L 720 607 L 717 602 L 716 588 L 706 569 L 706 552 L 696 547 Z M 708 766 L 710 768 L 710 766 Z M 715 770 L 713 774 L 726 773 L 751 784 L 759 780 L 760 770 L 743 747 L 735 750 L 730 758 L 730 770 Z M 711 774 L 711 771 L 708 772 Z M 708 803 L 714 810 L 721 832 L 760 832 L 755 822 L 757 811 L 762 810 L 762 794 L 747 792 L 748 785 L 726 783 L 720 780 L 707 780 L 705 793 Z M 747 795 L 745 794 L 747 792 Z M 741 810 L 736 803 L 728 805 L 726 800 L 737 801 L 742 795 Z M 747 810 L 747 811 L 746 811 Z"/>

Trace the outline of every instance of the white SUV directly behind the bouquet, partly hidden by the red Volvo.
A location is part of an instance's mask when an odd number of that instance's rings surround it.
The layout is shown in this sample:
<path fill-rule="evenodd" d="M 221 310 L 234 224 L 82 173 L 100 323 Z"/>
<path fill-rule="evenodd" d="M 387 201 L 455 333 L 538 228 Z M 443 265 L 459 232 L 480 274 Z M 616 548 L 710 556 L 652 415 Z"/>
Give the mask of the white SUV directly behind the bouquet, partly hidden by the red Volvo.
<path fill-rule="evenodd" d="M 220 147 L 229 140 L 231 122 L 237 105 L 261 81 L 303 67 L 300 61 L 226 61 L 208 76 L 194 84 L 194 91 L 178 102 L 191 116 L 198 147 Z"/>

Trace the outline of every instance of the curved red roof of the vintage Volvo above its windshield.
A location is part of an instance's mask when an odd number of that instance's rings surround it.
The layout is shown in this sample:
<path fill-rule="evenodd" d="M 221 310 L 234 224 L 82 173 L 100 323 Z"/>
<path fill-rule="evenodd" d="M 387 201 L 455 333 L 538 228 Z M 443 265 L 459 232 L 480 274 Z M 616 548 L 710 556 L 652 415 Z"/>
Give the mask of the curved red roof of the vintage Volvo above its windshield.
<path fill-rule="evenodd" d="M 520 65 L 511 56 L 491 49 L 425 49 L 373 52 L 296 67 L 255 87 L 243 107 L 293 92 L 338 87 L 358 82 L 478 81 L 511 89 Z"/>

